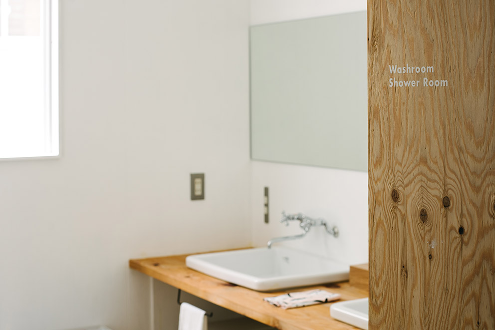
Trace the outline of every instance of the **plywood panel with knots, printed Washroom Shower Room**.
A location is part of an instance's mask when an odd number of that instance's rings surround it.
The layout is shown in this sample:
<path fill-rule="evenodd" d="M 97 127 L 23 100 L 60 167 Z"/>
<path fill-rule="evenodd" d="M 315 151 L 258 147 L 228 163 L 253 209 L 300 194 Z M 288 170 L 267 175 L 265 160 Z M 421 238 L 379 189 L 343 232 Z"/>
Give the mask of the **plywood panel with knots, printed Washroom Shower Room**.
<path fill-rule="evenodd" d="M 368 89 L 370 329 L 495 329 L 495 1 L 369 0 Z"/>

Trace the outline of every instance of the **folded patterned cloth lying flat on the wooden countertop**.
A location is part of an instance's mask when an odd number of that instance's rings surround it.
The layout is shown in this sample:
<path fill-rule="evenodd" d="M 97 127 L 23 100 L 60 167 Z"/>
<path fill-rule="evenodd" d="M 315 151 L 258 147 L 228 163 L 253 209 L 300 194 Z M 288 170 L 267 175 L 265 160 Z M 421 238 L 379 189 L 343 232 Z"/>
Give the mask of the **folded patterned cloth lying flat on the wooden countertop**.
<path fill-rule="evenodd" d="M 309 291 L 291 292 L 285 295 L 264 298 L 263 300 L 267 301 L 273 306 L 281 307 L 286 310 L 295 307 L 329 303 L 339 299 L 339 294 L 316 289 Z"/>

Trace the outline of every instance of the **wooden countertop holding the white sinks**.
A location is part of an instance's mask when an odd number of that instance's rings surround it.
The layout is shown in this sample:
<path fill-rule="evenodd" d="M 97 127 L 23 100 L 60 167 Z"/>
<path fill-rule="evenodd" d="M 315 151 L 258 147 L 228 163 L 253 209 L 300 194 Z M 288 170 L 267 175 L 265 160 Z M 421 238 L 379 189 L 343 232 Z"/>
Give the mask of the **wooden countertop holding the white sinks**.
<path fill-rule="evenodd" d="M 134 259 L 129 261 L 129 267 L 194 296 L 280 330 L 357 328 L 330 317 L 329 308 L 332 303 L 282 310 L 264 302 L 263 298 L 265 297 L 310 289 L 323 289 L 339 293 L 341 295 L 340 301 L 368 297 L 367 291 L 352 287 L 349 282 L 270 293 L 257 292 L 187 268 L 187 256 Z"/>

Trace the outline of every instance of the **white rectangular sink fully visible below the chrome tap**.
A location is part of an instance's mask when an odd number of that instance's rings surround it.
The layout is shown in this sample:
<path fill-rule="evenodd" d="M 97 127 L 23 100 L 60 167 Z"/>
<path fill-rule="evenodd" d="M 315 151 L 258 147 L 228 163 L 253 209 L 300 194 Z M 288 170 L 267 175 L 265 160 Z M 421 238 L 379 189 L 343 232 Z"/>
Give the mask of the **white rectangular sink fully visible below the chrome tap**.
<path fill-rule="evenodd" d="M 188 256 L 201 273 L 256 291 L 273 291 L 349 279 L 349 265 L 282 247 L 244 249 Z"/>

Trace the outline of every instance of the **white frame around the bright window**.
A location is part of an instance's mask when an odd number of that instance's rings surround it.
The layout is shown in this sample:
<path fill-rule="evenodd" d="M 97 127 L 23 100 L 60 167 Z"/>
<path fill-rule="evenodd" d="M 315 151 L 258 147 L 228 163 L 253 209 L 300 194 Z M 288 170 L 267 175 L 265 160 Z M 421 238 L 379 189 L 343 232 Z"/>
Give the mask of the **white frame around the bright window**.
<path fill-rule="evenodd" d="M 0 0 L 7 2 L 8 0 Z M 59 141 L 59 78 L 58 78 L 58 1 L 44 0 L 41 14 L 43 15 L 46 39 L 44 42 L 45 58 L 45 83 L 44 83 L 44 126 L 45 126 L 45 151 L 40 154 L 26 154 L 22 156 L 3 156 L 5 160 L 32 160 L 50 159 L 60 156 Z M 5 20 L 2 20 L 4 22 Z M 2 23 L 5 26 L 5 23 Z"/>

